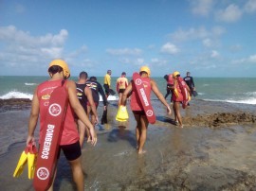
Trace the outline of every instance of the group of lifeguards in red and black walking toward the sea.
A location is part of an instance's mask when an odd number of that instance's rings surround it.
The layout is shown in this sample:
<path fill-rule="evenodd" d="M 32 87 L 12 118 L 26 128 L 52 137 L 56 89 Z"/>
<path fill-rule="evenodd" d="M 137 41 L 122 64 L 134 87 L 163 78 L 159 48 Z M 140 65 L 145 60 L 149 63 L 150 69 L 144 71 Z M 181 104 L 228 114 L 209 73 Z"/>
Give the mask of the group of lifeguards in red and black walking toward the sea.
<path fill-rule="evenodd" d="M 27 133 L 27 146 L 29 143 L 35 145 L 34 131 L 37 121 L 40 116 L 40 137 L 39 147 L 42 144 L 43 129 L 46 123 L 46 111 L 48 110 L 49 98 L 56 87 L 59 87 L 65 81 L 65 90 L 68 95 L 68 105 L 66 115 L 64 118 L 64 130 L 60 141 L 60 150 L 64 152 L 64 156 L 71 165 L 73 180 L 77 185 L 78 190 L 83 190 L 84 177 L 82 173 L 81 162 L 81 149 L 84 141 L 84 133 L 87 133 L 87 142 L 90 142 L 93 146 L 97 143 L 97 134 L 95 131 L 95 125 L 99 123 L 99 116 L 97 108 L 100 101 L 100 96 L 103 99 L 104 111 L 107 108 L 107 97 L 111 94 L 111 74 L 112 71 L 108 70 L 104 77 L 103 87 L 97 81 L 96 77 L 88 78 L 86 72 L 81 72 L 77 82 L 68 80 L 70 77 L 70 71 L 65 61 L 54 60 L 51 61 L 48 66 L 48 74 L 50 78 L 41 83 L 34 91 L 32 99 L 32 107 L 28 122 Z M 155 96 L 166 107 L 167 113 L 172 114 L 172 110 L 161 92 L 158 90 L 157 84 L 153 78 L 150 78 L 151 71 L 148 66 L 142 66 L 139 70 L 139 75 L 142 80 L 146 96 L 150 97 L 151 92 L 155 93 Z M 170 84 L 168 90 L 172 93 L 172 101 L 174 101 L 174 116 L 178 121 L 180 127 L 182 127 L 182 120 L 179 114 L 179 102 L 180 97 L 175 97 L 174 88 L 177 88 L 175 82 L 180 77 L 178 72 L 174 72 L 171 75 L 165 77 Z M 189 81 L 186 80 L 185 81 Z M 192 88 L 194 84 L 192 82 Z M 144 145 L 147 136 L 147 128 L 149 121 L 139 98 L 136 94 L 136 87 L 134 83 L 128 82 L 126 73 L 121 73 L 116 83 L 116 89 L 119 93 L 119 105 L 126 106 L 127 98 L 131 96 L 130 106 L 137 121 L 136 137 L 137 137 L 137 153 L 145 153 Z M 46 98 L 47 95 L 47 98 Z M 60 155 L 59 150 L 59 155 Z M 56 172 L 55 172 L 56 173 Z M 53 189 L 51 185 L 50 190 Z"/>

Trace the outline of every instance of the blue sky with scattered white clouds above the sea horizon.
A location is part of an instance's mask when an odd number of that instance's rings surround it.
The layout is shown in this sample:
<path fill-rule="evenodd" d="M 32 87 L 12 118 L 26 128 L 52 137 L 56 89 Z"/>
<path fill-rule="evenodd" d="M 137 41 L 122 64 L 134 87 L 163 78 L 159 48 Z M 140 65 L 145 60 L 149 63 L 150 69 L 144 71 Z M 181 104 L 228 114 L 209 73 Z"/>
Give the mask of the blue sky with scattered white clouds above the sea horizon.
<path fill-rule="evenodd" d="M 0 76 L 46 76 L 54 59 L 73 77 L 255 78 L 256 0 L 0 0 Z"/>

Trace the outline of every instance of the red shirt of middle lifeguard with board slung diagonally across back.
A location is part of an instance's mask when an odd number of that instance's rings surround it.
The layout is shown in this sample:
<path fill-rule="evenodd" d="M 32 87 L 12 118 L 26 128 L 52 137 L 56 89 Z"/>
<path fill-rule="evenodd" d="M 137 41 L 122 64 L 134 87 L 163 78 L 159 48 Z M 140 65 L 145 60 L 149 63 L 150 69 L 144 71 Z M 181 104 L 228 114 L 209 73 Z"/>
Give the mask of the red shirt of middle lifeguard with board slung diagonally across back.
<path fill-rule="evenodd" d="M 150 78 L 141 78 L 146 96 L 150 99 L 151 95 L 151 83 L 150 83 Z M 136 87 L 135 84 L 132 83 L 133 85 L 133 94 L 131 96 L 131 101 L 130 101 L 130 106 L 132 111 L 143 111 L 142 104 L 140 102 L 139 96 L 136 94 Z"/>

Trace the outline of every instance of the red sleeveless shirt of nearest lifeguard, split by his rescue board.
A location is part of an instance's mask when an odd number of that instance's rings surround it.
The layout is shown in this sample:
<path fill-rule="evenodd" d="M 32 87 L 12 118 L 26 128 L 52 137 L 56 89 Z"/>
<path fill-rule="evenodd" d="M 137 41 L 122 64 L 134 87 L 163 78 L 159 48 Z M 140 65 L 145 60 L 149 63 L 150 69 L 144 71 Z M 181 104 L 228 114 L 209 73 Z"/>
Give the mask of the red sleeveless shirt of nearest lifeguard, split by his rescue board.
<path fill-rule="evenodd" d="M 38 86 L 37 96 L 40 103 L 40 138 L 42 139 L 42 133 L 44 124 L 46 123 L 46 113 L 48 110 L 49 98 L 52 91 L 61 86 L 63 79 L 45 81 Z M 66 115 L 64 119 L 64 130 L 61 138 L 60 145 L 70 145 L 76 143 L 79 140 L 79 133 L 77 130 L 76 122 L 74 120 L 73 110 L 68 102 Z"/>

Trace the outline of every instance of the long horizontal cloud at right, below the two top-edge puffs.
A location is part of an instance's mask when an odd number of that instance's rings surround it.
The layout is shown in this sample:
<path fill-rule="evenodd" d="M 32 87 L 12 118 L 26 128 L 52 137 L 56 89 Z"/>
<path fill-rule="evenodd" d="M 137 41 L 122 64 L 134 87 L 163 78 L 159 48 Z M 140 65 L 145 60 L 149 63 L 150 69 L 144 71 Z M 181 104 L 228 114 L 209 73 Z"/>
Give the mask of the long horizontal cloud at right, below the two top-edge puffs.
<path fill-rule="evenodd" d="M 226 32 L 222 26 L 214 26 L 210 30 L 201 26 L 198 28 L 191 27 L 189 29 L 178 29 L 170 34 L 170 37 L 175 42 L 193 41 L 198 39 L 218 38 Z"/>

